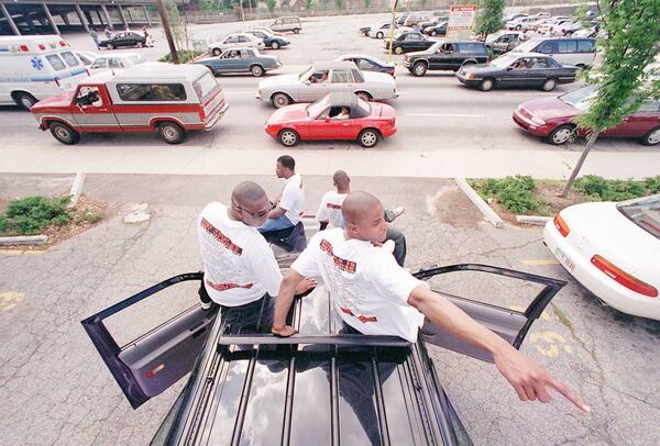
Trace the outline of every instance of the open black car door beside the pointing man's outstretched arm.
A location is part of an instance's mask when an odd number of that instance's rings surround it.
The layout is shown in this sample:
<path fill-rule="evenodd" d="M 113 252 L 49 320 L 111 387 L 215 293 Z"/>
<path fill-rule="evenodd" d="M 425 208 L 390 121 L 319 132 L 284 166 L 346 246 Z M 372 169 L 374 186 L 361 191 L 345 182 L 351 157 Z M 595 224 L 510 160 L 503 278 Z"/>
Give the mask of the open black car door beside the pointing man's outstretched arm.
<path fill-rule="evenodd" d="M 566 282 L 562 280 L 551 279 L 543 276 L 536 276 L 513 269 L 476 264 L 450 265 L 444 267 L 433 267 L 430 269 L 420 269 L 418 272 L 414 274 L 414 276 L 418 279 L 427 280 L 439 275 L 461 271 L 477 271 L 504 276 L 543 286 L 525 311 L 510 310 L 508 308 L 497 306 L 490 303 L 477 302 L 475 300 L 449 294 L 442 290 L 433 290 L 447 297 L 472 319 L 482 323 L 518 349 L 520 348 L 522 341 L 525 341 L 525 336 L 527 336 L 527 333 L 529 332 L 531 324 L 534 324 L 534 321 L 541 315 L 552 298 L 563 288 L 564 285 L 566 285 Z M 493 357 L 488 353 L 474 347 L 453 335 L 450 335 L 428 321 L 424 325 L 421 335 L 424 341 L 439 347 L 448 348 L 453 352 L 472 356 L 473 358 L 493 363 Z"/>

